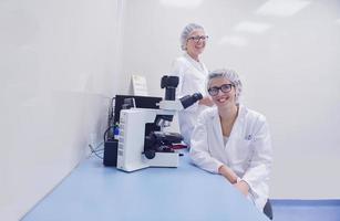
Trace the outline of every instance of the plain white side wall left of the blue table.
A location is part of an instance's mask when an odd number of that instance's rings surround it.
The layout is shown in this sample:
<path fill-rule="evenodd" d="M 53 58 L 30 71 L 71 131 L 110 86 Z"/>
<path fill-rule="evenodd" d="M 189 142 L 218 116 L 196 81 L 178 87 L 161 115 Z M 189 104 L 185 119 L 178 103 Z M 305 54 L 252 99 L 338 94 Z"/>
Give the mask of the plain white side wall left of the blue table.
<path fill-rule="evenodd" d="M 0 1 L 0 220 L 81 160 L 117 92 L 120 0 Z"/>

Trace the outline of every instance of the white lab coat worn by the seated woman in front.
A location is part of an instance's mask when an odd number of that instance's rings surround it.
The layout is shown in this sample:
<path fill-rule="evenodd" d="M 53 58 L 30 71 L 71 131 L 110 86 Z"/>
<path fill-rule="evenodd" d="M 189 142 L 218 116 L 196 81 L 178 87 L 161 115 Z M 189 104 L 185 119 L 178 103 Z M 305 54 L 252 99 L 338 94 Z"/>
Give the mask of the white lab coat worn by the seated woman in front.
<path fill-rule="evenodd" d="M 248 197 L 260 211 L 269 197 L 271 155 L 270 134 L 264 115 L 240 105 L 226 146 L 217 108 L 199 115 L 192 136 L 194 164 L 214 173 L 218 173 L 221 165 L 228 166 L 249 185 Z"/>

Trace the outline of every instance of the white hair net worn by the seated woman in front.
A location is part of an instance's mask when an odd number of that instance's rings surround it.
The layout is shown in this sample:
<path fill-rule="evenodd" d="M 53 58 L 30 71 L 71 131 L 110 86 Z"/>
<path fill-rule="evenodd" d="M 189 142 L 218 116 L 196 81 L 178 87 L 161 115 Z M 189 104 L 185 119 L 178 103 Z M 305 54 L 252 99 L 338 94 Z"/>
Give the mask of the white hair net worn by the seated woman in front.
<path fill-rule="evenodd" d="M 223 77 L 226 80 L 229 80 L 231 84 L 235 85 L 235 92 L 236 92 L 236 103 L 239 104 L 239 97 L 243 92 L 243 83 L 238 76 L 238 74 L 234 70 L 216 70 L 209 73 L 208 75 L 208 84 L 207 87 L 209 87 L 212 80 Z"/>

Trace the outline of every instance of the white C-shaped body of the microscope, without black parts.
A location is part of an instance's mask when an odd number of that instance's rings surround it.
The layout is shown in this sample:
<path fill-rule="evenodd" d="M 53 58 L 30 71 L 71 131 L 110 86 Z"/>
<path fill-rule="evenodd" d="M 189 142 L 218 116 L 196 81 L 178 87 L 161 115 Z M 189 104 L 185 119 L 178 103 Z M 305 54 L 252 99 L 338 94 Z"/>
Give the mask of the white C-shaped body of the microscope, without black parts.
<path fill-rule="evenodd" d="M 148 159 L 145 155 L 145 124 L 154 124 L 157 115 L 174 115 L 164 109 L 122 109 L 117 149 L 117 168 L 134 171 L 146 167 L 177 167 L 178 152 L 155 151 Z"/>

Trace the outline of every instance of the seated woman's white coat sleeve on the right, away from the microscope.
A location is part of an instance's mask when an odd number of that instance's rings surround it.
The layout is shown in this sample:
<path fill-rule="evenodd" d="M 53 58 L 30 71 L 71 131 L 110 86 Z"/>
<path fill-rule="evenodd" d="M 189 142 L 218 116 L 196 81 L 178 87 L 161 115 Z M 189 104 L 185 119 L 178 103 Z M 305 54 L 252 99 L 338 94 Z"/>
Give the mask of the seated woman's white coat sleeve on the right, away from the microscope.
<path fill-rule="evenodd" d="M 250 191 L 253 191 L 255 196 L 261 194 L 261 190 L 259 188 L 260 183 L 269 179 L 272 162 L 269 126 L 264 116 L 261 116 L 259 122 L 258 129 L 255 131 L 254 137 L 253 157 L 248 169 L 241 178 L 249 185 Z"/>

